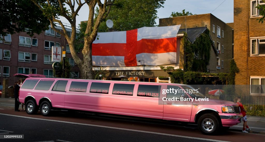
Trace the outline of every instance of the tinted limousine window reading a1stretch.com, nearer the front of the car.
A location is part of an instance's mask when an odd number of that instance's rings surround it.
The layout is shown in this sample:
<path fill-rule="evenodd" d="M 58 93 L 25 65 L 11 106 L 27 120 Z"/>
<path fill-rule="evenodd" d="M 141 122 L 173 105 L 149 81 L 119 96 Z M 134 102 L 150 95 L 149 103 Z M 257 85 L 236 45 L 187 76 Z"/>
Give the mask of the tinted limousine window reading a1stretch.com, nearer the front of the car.
<path fill-rule="evenodd" d="M 118 84 L 113 86 L 112 94 L 116 95 L 133 95 L 134 84 Z"/>

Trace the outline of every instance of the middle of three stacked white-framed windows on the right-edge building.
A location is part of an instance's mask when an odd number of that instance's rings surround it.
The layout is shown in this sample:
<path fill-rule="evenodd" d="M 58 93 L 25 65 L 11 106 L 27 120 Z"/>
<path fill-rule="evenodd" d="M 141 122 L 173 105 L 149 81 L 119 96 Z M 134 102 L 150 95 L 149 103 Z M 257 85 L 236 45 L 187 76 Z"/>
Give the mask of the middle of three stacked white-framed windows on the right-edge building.
<path fill-rule="evenodd" d="M 253 38 L 250 39 L 250 43 L 250 55 L 265 55 L 265 38 Z"/>

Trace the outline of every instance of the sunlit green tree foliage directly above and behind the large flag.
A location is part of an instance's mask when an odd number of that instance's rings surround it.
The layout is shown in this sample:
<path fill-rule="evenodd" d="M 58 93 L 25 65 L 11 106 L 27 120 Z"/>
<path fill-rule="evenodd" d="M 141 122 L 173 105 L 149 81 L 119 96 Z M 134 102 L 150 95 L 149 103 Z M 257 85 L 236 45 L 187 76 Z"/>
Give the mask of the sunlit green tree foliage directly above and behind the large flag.
<path fill-rule="evenodd" d="M 111 19 L 113 29 L 118 31 L 133 30 L 141 27 L 156 26 L 157 9 L 163 7 L 165 0 L 116 0 L 106 19 L 103 19 L 99 32 L 108 31 L 106 21 Z M 97 19 L 99 9 L 96 9 Z"/>

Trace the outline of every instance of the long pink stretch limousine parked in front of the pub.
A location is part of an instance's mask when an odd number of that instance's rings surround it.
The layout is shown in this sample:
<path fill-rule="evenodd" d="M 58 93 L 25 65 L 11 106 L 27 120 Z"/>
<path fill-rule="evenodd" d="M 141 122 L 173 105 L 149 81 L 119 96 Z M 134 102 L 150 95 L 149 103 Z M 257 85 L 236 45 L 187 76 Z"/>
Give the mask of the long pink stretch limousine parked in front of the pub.
<path fill-rule="evenodd" d="M 215 134 L 242 121 L 236 103 L 208 99 L 189 85 L 29 77 L 19 91 L 28 114 L 76 109 L 197 123 Z"/>

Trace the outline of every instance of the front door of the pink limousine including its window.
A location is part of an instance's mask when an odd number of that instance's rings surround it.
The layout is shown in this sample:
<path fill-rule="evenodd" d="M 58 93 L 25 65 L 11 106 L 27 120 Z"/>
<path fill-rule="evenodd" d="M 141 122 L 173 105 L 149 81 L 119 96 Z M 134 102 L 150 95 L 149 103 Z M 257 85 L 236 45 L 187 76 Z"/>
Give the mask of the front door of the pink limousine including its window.
<path fill-rule="evenodd" d="M 164 100 L 164 120 L 189 122 L 191 118 L 192 101 L 180 100 L 183 93 L 179 86 L 167 85 Z"/>

